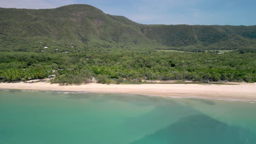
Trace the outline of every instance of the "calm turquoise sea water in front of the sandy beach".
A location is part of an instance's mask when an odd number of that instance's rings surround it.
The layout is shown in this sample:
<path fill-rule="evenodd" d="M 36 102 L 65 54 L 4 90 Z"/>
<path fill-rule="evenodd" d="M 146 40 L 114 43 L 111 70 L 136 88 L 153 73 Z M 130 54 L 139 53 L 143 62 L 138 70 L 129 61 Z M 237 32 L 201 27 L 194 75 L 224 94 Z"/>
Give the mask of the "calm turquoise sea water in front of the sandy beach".
<path fill-rule="evenodd" d="M 0 91 L 0 143 L 256 143 L 256 104 Z"/>

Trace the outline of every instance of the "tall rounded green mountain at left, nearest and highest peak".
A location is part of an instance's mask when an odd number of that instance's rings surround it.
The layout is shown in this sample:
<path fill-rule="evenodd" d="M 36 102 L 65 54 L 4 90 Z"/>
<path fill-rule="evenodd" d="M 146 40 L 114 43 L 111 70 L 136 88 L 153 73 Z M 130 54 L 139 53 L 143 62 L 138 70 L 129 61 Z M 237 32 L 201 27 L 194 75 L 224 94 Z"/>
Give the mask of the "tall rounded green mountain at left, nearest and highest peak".
<path fill-rule="evenodd" d="M 41 41 L 57 46 L 88 43 L 153 44 L 137 26 L 120 22 L 90 5 L 67 5 L 56 9 L 0 9 L 1 50 L 27 51 Z M 118 20 L 115 20 L 118 19 Z M 29 50 L 30 51 L 30 50 Z"/>

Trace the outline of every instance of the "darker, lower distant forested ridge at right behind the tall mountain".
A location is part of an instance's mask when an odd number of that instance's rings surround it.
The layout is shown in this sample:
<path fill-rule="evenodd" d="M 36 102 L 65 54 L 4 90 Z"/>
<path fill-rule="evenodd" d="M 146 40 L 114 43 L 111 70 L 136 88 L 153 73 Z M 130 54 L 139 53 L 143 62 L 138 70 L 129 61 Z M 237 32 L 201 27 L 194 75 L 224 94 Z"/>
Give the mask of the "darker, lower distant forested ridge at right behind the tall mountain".
<path fill-rule="evenodd" d="M 256 26 L 144 25 L 142 32 L 148 38 L 171 47 L 194 45 L 207 50 L 229 50 L 241 46 L 255 47 L 256 42 Z M 223 41 L 233 41 L 234 44 L 227 47 Z"/>

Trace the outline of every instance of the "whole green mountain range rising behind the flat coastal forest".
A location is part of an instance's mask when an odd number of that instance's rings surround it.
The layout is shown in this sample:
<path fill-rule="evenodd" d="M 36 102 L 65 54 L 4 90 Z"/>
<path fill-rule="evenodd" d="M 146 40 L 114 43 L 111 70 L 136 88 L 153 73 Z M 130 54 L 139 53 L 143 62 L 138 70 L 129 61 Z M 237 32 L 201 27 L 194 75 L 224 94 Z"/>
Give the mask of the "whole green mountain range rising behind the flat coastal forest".
<path fill-rule="evenodd" d="M 55 9 L 0 8 L 0 51 L 51 47 L 256 49 L 256 26 L 142 25 L 86 4 Z"/>

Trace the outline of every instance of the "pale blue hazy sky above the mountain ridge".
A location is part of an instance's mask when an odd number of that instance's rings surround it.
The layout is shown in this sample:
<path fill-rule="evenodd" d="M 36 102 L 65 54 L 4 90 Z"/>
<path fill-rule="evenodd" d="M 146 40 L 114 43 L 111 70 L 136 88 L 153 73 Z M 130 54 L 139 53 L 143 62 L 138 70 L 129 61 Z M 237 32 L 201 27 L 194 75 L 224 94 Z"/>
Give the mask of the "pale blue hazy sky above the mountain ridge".
<path fill-rule="evenodd" d="M 48 9 L 90 4 L 143 24 L 256 25 L 256 0 L 0 0 L 2 8 Z"/>

